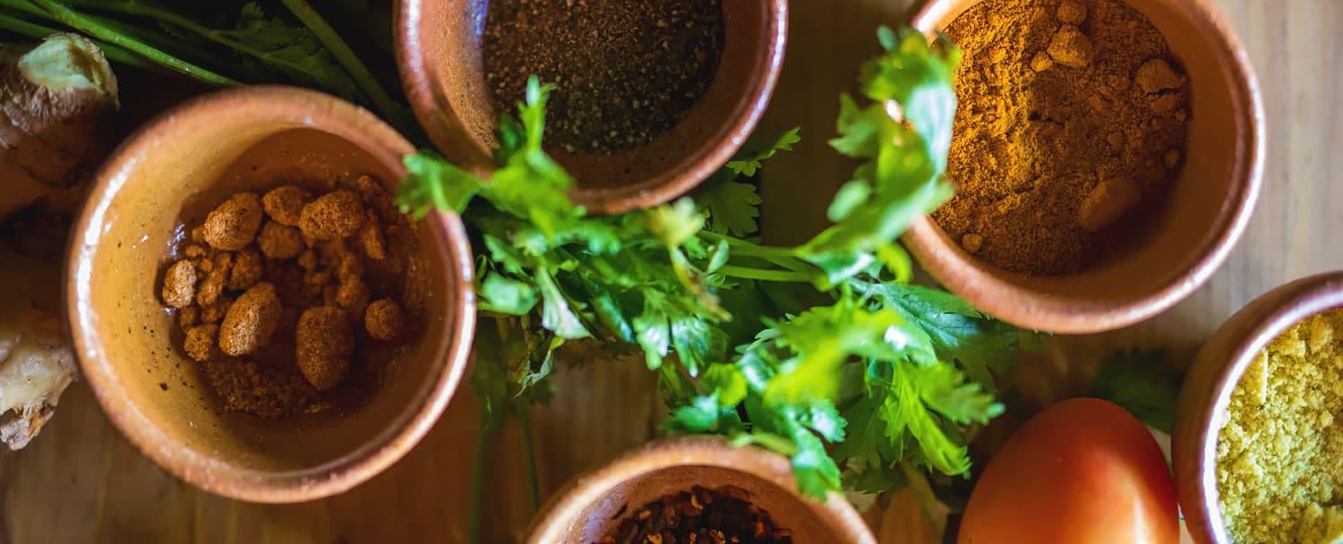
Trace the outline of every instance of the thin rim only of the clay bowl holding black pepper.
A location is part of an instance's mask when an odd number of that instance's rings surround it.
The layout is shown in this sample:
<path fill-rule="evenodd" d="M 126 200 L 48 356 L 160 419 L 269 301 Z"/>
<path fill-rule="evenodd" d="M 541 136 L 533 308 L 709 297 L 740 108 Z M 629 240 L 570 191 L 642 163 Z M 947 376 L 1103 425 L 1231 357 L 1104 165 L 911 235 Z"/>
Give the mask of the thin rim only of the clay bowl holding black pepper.
<path fill-rule="evenodd" d="M 430 1 L 443 0 L 402 0 L 396 8 L 396 67 L 402 77 L 402 86 L 410 98 L 415 118 L 419 120 L 420 126 L 428 133 L 435 146 L 439 149 L 465 146 L 466 149 L 461 149 L 461 152 L 469 156 L 466 161 L 469 164 L 463 164 L 463 168 L 478 173 L 492 172 L 494 161 L 490 157 L 490 150 L 481 146 L 474 138 L 461 134 L 465 132 L 462 118 L 445 95 L 443 86 L 439 85 L 446 75 L 438 69 L 438 63 L 426 58 L 426 52 L 431 48 L 426 43 L 442 39 L 420 32 L 423 5 Z M 764 117 L 770 99 L 774 97 L 788 40 L 788 0 L 752 1 L 760 1 L 767 8 L 766 35 L 768 42 L 766 47 L 756 51 L 756 55 L 766 56 L 764 62 L 757 62 L 757 66 L 764 66 L 764 70 L 751 78 L 752 83 L 744 93 L 749 99 L 737 103 L 727 116 L 733 121 L 716 126 L 713 133 L 704 138 L 684 161 L 684 164 L 689 164 L 688 168 L 669 171 L 661 176 L 627 185 L 575 189 L 571 197 L 576 204 L 584 206 L 588 212 L 594 214 L 624 214 L 663 204 L 685 195 L 706 180 L 745 144 L 747 137 Z"/>

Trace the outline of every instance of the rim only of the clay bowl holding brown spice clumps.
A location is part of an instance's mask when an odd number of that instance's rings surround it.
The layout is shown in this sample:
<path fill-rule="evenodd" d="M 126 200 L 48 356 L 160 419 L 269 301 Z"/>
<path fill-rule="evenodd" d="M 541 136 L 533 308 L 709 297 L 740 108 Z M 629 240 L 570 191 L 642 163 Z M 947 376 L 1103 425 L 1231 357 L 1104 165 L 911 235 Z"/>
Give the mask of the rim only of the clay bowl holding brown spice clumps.
<path fill-rule="evenodd" d="M 101 353 L 97 316 L 87 304 L 89 263 L 102 236 L 101 223 L 115 193 L 137 168 L 140 157 L 158 146 L 172 146 L 165 134 L 193 130 L 216 122 L 223 111 L 255 118 L 257 122 L 285 124 L 329 132 L 363 148 L 392 172 L 404 175 L 402 154 L 414 148 L 391 126 L 369 111 L 322 93 L 283 86 L 251 86 L 211 93 L 172 107 L 137 129 L 99 168 L 89 199 L 71 228 L 66 253 L 64 305 L 74 348 L 94 396 L 111 423 L 141 453 L 169 473 L 208 492 L 254 502 L 299 502 L 345 492 L 379 474 L 414 447 L 438 420 L 461 383 L 475 326 L 475 300 L 470 243 L 455 214 L 431 214 L 424 228 L 432 232 L 435 248 L 430 258 L 455 279 L 455 308 L 451 334 L 435 368 L 408 400 L 393 424 L 356 450 L 322 465 L 286 471 L 239 469 L 201 455 L 171 438 L 142 414 L 120 384 L 113 365 Z M 161 150 L 158 150 L 161 152 Z"/>

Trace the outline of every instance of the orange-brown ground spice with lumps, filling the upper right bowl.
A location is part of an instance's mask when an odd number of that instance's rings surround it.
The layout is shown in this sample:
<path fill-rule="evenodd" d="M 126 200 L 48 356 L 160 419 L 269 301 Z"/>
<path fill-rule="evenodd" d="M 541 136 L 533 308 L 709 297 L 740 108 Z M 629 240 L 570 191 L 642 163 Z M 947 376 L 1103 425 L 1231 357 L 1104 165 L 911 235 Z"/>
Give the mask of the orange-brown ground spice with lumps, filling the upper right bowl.
<path fill-rule="evenodd" d="M 1187 78 L 1117 0 L 986 0 L 947 34 L 966 56 L 933 219 L 998 267 L 1086 269 L 1151 224 L 1179 175 Z"/>

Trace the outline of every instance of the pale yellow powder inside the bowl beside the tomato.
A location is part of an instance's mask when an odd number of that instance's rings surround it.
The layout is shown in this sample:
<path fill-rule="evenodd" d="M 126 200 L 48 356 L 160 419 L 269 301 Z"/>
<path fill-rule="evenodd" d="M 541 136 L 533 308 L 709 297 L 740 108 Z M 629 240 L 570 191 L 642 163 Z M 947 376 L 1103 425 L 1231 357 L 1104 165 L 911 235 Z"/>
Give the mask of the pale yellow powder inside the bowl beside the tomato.
<path fill-rule="evenodd" d="M 1237 544 L 1343 543 L 1343 310 L 1275 338 L 1232 394 L 1217 441 Z"/>

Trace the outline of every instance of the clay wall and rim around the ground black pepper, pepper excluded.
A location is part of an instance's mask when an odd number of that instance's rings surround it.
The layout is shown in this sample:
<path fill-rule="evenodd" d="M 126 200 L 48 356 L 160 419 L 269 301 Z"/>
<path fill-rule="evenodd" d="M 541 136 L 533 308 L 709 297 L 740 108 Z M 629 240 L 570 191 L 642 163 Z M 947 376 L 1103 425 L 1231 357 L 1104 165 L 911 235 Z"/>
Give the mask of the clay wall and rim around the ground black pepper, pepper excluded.
<path fill-rule="evenodd" d="M 723 60 L 709 90 L 673 130 L 612 154 L 552 154 L 577 180 L 571 197 L 599 214 L 649 208 L 690 191 L 741 146 L 770 103 L 783 66 L 787 0 L 720 3 Z M 402 0 L 396 62 L 420 125 L 453 163 L 489 172 L 500 111 L 481 59 L 489 0 Z"/>

